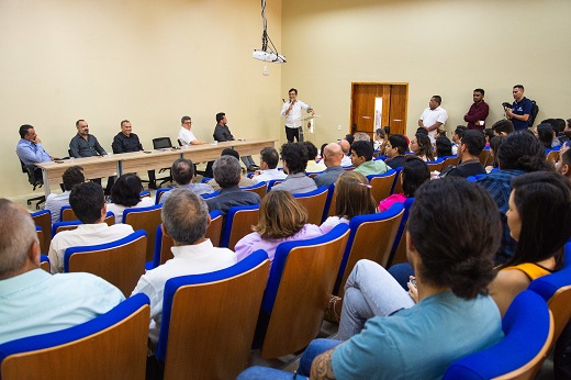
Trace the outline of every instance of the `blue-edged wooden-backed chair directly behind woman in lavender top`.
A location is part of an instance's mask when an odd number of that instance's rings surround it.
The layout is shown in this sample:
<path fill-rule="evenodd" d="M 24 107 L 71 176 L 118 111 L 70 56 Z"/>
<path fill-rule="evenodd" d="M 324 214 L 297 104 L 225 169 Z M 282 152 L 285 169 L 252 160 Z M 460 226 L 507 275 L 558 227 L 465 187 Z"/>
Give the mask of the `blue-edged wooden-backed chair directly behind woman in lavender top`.
<path fill-rule="evenodd" d="M 254 344 L 262 359 L 295 353 L 317 336 L 348 237 L 342 223 L 323 236 L 278 246 Z"/>

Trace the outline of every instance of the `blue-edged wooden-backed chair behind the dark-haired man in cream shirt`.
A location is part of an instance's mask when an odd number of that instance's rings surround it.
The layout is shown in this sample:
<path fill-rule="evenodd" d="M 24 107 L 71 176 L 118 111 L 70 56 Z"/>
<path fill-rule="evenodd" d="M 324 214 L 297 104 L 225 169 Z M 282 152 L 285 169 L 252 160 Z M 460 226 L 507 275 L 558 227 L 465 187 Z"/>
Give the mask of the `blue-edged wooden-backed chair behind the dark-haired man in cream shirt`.
<path fill-rule="evenodd" d="M 145 273 L 146 247 L 147 234 L 139 230 L 115 242 L 67 248 L 64 270 L 99 276 L 128 297 Z"/>

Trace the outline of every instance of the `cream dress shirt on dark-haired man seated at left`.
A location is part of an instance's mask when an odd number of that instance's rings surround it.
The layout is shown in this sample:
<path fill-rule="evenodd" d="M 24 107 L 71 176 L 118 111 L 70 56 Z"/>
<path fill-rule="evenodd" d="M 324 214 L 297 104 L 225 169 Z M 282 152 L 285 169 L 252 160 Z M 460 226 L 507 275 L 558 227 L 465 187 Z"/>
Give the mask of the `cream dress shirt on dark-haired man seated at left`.
<path fill-rule="evenodd" d="M 67 248 L 111 243 L 132 233 L 133 227 L 128 224 L 108 226 L 107 223 L 80 224 L 76 230 L 57 233 L 47 255 L 52 273 L 64 272 L 64 255 Z"/>

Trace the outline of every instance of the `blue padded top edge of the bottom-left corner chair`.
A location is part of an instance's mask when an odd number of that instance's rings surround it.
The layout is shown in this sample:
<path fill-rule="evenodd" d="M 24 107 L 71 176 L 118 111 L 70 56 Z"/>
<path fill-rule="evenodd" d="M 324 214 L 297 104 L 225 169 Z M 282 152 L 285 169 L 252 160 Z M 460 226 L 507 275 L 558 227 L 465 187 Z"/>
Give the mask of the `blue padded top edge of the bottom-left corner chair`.
<path fill-rule="evenodd" d="M 80 325 L 58 332 L 34 335 L 12 342 L 7 342 L 0 345 L 0 365 L 7 357 L 11 355 L 63 346 L 100 333 L 122 322 L 138 311 L 142 306 L 148 304 L 148 297 L 139 293 L 121 302 L 109 312 Z"/>

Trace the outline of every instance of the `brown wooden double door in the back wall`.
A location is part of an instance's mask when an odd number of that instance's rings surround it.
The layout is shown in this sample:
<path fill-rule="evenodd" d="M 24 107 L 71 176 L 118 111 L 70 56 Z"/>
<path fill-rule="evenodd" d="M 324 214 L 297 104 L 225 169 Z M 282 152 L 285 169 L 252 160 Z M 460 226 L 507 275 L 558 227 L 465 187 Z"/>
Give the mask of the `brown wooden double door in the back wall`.
<path fill-rule="evenodd" d="M 380 126 L 390 126 L 391 133 L 406 131 L 407 83 L 351 83 L 351 133 L 374 136 L 376 100 L 382 99 Z"/>

